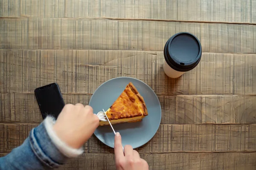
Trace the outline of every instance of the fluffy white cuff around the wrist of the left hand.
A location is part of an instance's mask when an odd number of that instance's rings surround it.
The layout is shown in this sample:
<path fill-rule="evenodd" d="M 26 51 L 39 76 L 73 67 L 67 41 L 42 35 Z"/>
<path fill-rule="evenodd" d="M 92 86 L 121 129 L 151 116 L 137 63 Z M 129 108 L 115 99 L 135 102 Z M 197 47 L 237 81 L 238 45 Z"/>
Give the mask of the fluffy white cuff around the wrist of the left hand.
<path fill-rule="evenodd" d="M 79 149 L 75 149 L 73 147 L 68 146 L 65 142 L 63 142 L 55 133 L 52 126 L 55 124 L 55 118 L 52 116 L 47 116 L 44 119 L 44 126 L 49 137 L 52 139 L 52 142 L 58 148 L 58 150 L 68 158 L 77 157 L 84 152 L 83 147 Z"/>

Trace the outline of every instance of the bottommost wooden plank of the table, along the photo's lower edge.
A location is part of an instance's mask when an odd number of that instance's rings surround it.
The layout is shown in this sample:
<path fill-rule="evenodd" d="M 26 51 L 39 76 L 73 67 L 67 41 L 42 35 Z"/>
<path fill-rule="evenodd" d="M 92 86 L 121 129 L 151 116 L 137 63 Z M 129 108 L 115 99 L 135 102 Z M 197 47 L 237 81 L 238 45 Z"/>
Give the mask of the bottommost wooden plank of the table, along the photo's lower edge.
<path fill-rule="evenodd" d="M 5 156 L 6 153 L 0 153 Z M 140 154 L 150 170 L 255 170 L 256 153 L 165 153 Z M 114 155 L 84 153 L 60 170 L 116 170 Z"/>

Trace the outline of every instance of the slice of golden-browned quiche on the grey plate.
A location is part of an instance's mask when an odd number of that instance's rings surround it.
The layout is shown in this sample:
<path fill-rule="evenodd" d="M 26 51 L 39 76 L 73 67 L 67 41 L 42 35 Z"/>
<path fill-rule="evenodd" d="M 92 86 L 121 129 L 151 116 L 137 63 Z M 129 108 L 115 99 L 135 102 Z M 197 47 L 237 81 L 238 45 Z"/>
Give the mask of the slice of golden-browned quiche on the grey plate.
<path fill-rule="evenodd" d="M 124 122 L 139 122 L 148 115 L 143 97 L 130 82 L 122 94 L 106 111 L 111 124 Z M 109 125 L 108 121 L 99 121 L 99 126 Z"/>

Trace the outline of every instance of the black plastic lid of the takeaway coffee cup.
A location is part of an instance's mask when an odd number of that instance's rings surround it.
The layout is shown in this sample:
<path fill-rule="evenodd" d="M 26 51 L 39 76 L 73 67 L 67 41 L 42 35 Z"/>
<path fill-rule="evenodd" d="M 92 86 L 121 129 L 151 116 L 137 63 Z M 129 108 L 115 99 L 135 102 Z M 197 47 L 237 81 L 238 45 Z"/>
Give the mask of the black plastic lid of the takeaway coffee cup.
<path fill-rule="evenodd" d="M 177 71 L 190 71 L 198 65 L 202 55 L 201 43 L 188 32 L 173 35 L 164 47 L 167 64 Z"/>

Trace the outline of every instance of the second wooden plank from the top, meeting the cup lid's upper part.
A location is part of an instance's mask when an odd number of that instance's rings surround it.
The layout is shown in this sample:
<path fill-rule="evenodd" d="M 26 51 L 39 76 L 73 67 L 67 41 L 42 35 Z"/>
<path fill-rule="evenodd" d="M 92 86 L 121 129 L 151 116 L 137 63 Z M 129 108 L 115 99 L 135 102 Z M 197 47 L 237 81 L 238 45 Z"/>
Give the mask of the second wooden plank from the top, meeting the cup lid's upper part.
<path fill-rule="evenodd" d="M 0 48 L 163 51 L 169 37 L 187 31 L 198 37 L 203 52 L 256 53 L 256 25 L 4 18 L 0 29 Z"/>

